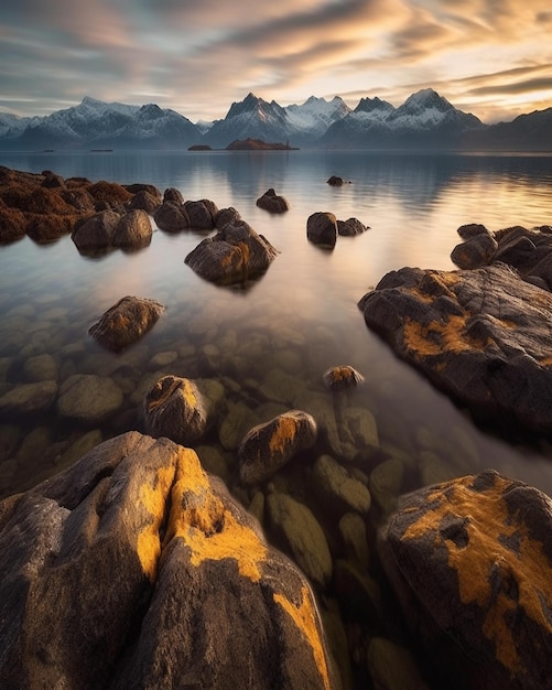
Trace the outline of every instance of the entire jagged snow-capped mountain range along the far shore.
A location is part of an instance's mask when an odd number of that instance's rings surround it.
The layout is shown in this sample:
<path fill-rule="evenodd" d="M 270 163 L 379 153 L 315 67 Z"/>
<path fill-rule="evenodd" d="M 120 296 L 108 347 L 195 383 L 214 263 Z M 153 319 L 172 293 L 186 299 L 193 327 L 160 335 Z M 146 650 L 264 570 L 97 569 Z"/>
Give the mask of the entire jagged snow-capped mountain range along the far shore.
<path fill-rule="evenodd" d="M 351 109 L 339 96 L 312 96 L 282 107 L 249 94 L 224 119 L 192 122 L 154 104 L 130 106 L 86 96 L 78 106 L 44 117 L 0 112 L 0 150 L 226 148 L 261 139 L 300 148 L 369 150 L 552 150 L 552 108 L 485 125 L 431 88 L 399 107 L 361 98 Z"/>

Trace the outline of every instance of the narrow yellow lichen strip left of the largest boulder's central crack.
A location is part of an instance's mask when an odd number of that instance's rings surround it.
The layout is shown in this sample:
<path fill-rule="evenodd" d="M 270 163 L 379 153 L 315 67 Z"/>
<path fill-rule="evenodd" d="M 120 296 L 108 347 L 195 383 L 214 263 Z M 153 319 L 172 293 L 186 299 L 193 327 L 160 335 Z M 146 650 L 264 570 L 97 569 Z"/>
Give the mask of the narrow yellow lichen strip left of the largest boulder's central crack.
<path fill-rule="evenodd" d="M 143 484 L 139 492 L 141 505 L 151 515 L 151 520 L 138 533 L 137 552 L 142 569 L 151 582 L 155 580 L 158 572 L 161 556 L 159 530 L 173 478 L 173 465 L 161 467 L 155 475 L 155 481 L 152 484 Z"/>

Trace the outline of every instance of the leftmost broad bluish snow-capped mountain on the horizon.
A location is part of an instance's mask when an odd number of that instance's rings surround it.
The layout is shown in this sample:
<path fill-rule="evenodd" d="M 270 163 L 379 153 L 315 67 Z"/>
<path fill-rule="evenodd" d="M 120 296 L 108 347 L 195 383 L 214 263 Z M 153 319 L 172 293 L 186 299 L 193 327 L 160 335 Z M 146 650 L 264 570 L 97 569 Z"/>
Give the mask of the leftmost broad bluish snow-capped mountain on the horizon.
<path fill-rule="evenodd" d="M 13 129 L 11 130 L 13 134 Z M 187 147 L 201 132 L 187 118 L 153 104 L 129 106 L 86 96 L 78 106 L 30 118 L 2 148 Z"/>

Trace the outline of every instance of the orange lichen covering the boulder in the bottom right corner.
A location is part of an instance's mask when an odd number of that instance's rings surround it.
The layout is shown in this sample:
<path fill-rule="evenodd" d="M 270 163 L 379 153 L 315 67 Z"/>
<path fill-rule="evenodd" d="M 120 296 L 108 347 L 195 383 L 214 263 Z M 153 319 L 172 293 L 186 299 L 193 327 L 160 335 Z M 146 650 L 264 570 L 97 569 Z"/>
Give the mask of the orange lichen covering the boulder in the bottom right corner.
<path fill-rule="evenodd" d="M 433 531 L 435 547 L 446 547 L 448 567 L 458 576 L 462 603 L 475 603 L 486 612 L 483 633 L 495 644 L 496 658 L 513 675 L 522 670 L 522 661 L 508 613 L 519 606 L 540 628 L 552 633 L 540 599 L 541 594 L 545 601 L 552 601 L 549 561 L 542 545 L 531 538 L 520 516 L 511 516 L 508 511 L 502 493 L 510 483 L 497 476 L 489 489 L 474 492 L 470 482 L 472 478 L 466 477 L 451 484 L 448 497 L 442 486 L 435 488 L 430 495 L 430 506 L 405 530 L 402 540 L 418 539 Z M 451 515 L 467 518 L 467 546 L 444 539 L 436 529 L 440 521 Z M 519 552 L 506 546 L 509 538 L 517 540 Z M 517 599 L 500 586 L 512 578 L 518 590 Z"/>

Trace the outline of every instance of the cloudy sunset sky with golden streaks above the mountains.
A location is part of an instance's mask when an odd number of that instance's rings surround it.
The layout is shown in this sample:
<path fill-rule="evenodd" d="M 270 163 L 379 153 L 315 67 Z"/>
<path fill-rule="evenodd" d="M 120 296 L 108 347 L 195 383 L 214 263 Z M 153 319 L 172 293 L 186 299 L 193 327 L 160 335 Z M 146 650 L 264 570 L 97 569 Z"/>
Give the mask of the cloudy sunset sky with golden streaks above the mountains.
<path fill-rule="evenodd" d="M 0 8 L 0 111 L 85 96 L 193 122 L 250 91 L 281 106 L 432 87 L 484 122 L 552 107 L 550 0 L 13 0 Z"/>

